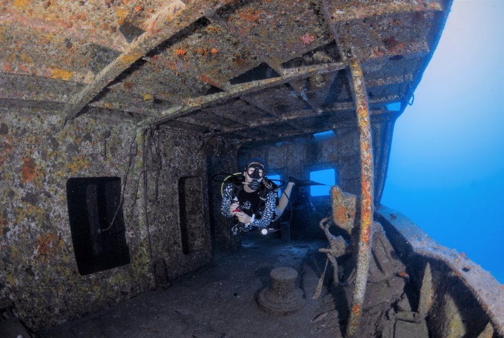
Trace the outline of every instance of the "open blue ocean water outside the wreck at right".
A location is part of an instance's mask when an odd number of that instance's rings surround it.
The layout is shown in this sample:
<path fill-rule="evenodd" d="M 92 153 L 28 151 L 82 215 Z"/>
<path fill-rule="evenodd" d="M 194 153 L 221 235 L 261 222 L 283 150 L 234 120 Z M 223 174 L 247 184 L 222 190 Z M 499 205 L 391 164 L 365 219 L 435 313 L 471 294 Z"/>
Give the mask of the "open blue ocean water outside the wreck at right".
<path fill-rule="evenodd" d="M 414 94 L 381 202 L 504 283 L 504 2 L 453 2 Z"/>

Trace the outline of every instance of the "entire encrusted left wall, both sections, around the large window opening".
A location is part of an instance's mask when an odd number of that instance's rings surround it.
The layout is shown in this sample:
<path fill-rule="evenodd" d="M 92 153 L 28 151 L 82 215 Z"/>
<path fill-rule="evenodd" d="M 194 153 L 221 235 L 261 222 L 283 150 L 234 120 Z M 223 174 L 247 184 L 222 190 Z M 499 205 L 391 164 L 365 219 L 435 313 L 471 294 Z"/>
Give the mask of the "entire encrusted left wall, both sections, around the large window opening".
<path fill-rule="evenodd" d="M 49 111 L 4 109 L 0 115 L 0 300 L 32 329 L 155 287 L 152 264 L 160 258 L 171 279 L 211 257 L 207 165 L 200 139 L 91 117 L 63 128 L 63 119 Z M 124 184 L 131 262 L 82 276 L 70 233 L 66 182 L 100 176 L 119 176 Z M 189 215 L 189 254 L 181 244 L 181 177 L 192 177 L 184 210 L 198 213 Z M 201 194 L 191 199 L 197 195 L 193 192 Z"/>

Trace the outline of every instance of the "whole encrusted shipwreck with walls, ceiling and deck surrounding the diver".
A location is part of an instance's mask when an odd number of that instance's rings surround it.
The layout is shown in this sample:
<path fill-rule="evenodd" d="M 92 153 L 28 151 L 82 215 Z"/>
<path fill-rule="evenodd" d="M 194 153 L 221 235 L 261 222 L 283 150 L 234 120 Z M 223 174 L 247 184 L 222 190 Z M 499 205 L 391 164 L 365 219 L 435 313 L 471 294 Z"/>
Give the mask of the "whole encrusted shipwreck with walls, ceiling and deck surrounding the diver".
<path fill-rule="evenodd" d="M 0 6 L 0 336 L 504 334 L 502 286 L 380 205 L 450 0 Z M 257 156 L 326 190 L 234 235 L 212 178 Z"/>

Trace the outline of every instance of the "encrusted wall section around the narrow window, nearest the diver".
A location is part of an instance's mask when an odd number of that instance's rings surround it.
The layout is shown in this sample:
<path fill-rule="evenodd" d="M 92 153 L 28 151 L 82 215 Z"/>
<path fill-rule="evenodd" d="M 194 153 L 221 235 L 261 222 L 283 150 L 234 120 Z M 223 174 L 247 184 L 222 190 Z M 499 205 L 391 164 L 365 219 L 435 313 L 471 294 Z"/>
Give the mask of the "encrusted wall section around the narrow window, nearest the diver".
<path fill-rule="evenodd" d="M 166 130 L 153 131 L 148 137 L 147 200 L 152 257 L 164 259 L 169 278 L 174 278 L 211 259 L 204 143 L 201 137 Z M 184 238 L 189 242 L 188 250 L 183 248 Z"/>

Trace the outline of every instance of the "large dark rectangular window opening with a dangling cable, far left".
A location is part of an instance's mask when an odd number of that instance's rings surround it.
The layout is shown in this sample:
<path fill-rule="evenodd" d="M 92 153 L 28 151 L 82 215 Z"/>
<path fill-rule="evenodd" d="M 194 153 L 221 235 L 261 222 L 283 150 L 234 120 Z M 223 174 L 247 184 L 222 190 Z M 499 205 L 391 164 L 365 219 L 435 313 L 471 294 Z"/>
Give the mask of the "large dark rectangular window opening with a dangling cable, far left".
<path fill-rule="evenodd" d="M 130 252 L 120 205 L 121 178 L 69 178 L 66 197 L 79 273 L 88 275 L 129 264 Z"/>

